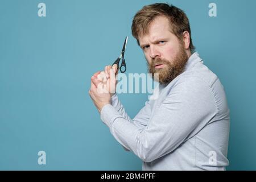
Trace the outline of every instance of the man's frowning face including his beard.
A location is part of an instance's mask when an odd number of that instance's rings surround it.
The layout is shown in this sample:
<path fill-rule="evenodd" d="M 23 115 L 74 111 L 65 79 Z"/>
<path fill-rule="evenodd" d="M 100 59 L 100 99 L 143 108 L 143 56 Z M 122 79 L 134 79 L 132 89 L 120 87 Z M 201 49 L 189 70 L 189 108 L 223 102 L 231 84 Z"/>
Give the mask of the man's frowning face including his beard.
<path fill-rule="evenodd" d="M 160 84 L 168 84 L 183 72 L 188 55 L 183 43 L 170 31 L 169 20 L 157 16 L 148 27 L 148 34 L 139 36 L 148 64 L 148 72 L 158 73 Z"/>

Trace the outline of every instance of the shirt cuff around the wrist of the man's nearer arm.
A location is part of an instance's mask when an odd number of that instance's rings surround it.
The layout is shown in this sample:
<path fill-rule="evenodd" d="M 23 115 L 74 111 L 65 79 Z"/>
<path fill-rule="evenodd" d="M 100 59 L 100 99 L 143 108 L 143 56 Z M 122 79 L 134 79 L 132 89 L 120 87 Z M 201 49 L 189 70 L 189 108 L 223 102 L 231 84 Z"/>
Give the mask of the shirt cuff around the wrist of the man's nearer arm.
<path fill-rule="evenodd" d="M 101 120 L 110 128 L 114 122 L 114 119 L 119 117 L 120 114 L 118 113 L 115 108 L 110 105 L 106 104 L 101 109 Z"/>

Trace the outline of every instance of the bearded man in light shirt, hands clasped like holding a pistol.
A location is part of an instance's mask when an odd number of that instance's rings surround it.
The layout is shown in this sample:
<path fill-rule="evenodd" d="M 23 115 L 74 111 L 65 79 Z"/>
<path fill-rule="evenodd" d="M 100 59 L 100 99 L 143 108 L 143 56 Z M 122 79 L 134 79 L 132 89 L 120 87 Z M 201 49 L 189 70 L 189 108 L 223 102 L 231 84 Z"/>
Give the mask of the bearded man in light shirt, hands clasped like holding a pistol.
<path fill-rule="evenodd" d="M 100 93 L 91 79 L 90 97 L 114 138 L 142 159 L 143 170 L 225 170 L 229 140 L 229 109 L 218 77 L 195 52 L 189 20 L 183 10 L 155 3 L 134 16 L 131 27 L 147 60 L 158 75 L 159 97 L 148 100 L 131 119 L 113 94 Z M 106 66 L 106 82 L 118 69 Z M 105 83 L 106 83 L 105 82 Z"/>

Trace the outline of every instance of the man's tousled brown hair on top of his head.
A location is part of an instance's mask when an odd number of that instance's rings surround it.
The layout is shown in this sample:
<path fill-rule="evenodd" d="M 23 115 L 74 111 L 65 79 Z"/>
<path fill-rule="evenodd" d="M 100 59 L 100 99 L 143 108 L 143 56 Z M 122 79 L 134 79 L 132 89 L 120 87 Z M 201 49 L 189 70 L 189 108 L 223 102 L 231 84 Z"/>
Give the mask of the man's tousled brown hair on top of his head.
<path fill-rule="evenodd" d="M 183 42 L 183 32 L 189 32 L 190 44 L 189 48 L 191 52 L 195 51 L 191 39 L 191 30 L 189 26 L 189 20 L 183 10 L 169 5 L 168 3 L 155 3 L 152 5 L 144 6 L 141 10 L 135 14 L 133 18 L 133 24 L 131 26 L 131 33 L 134 38 L 137 39 L 139 45 L 139 36 L 148 34 L 148 26 L 155 19 L 156 16 L 166 16 L 169 19 L 171 32 L 177 36 L 177 38 Z"/>

